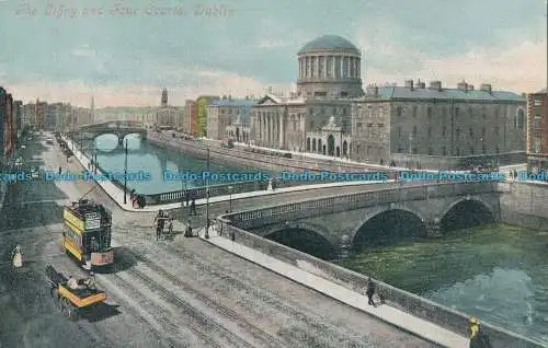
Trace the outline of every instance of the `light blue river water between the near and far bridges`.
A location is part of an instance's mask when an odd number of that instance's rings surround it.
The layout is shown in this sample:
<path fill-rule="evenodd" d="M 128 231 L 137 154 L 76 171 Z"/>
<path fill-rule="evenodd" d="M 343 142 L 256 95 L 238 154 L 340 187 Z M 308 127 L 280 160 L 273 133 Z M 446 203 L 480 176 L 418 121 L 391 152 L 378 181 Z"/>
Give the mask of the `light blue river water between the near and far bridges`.
<path fill-rule="evenodd" d="M 124 173 L 124 151 L 113 151 L 118 147 L 117 137 L 115 135 L 103 135 L 92 141 L 84 141 L 82 147 L 88 156 L 91 158 L 93 149 L 95 151 L 98 163 L 101 169 L 107 172 Z M 136 173 L 144 171 L 150 174 L 149 181 L 128 181 L 127 186 L 135 188 L 139 194 L 151 195 L 180 190 L 196 186 L 205 186 L 203 181 L 193 179 L 164 179 L 163 172 L 194 172 L 199 173 L 206 171 L 207 161 L 195 159 L 185 155 L 181 152 L 161 149 L 151 146 L 147 141 L 141 141 L 138 135 L 129 135 L 125 139 L 128 140 L 127 171 Z M 162 167 L 162 165 L 165 165 Z M 262 172 L 271 174 L 266 171 L 249 167 L 249 166 L 229 166 L 224 163 L 218 163 L 214 158 L 209 161 L 209 171 L 212 173 L 256 173 Z M 228 182 L 210 182 L 210 185 L 226 184 Z"/>

